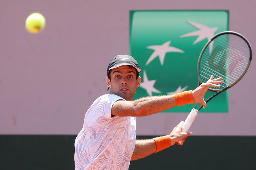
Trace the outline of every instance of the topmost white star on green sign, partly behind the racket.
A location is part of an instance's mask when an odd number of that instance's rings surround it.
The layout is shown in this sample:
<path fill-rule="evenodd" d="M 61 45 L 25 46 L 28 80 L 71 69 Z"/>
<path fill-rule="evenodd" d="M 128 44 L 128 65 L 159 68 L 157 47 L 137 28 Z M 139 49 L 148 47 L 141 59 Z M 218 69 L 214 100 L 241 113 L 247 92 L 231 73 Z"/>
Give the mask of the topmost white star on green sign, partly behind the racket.
<path fill-rule="evenodd" d="M 192 21 L 188 21 L 188 23 L 193 25 L 194 27 L 198 28 L 199 30 L 184 34 L 184 35 L 180 36 L 180 38 L 198 36 L 198 38 L 196 39 L 195 42 L 193 42 L 193 44 L 196 44 L 197 42 L 200 42 L 206 38 L 209 41 L 215 35 L 215 32 L 218 30 L 218 27 L 210 28 L 205 25 L 195 23 Z M 210 44 L 210 52 L 212 51 L 212 45 L 213 45 L 213 43 Z"/>

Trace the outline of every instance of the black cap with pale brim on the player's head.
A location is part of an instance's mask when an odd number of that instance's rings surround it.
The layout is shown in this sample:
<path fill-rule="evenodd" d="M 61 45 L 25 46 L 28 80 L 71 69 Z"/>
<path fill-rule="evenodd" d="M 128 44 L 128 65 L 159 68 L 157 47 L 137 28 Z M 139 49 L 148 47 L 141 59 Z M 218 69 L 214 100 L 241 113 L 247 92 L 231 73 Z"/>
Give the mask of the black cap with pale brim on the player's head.
<path fill-rule="evenodd" d="M 141 72 L 141 69 L 139 68 L 139 65 L 138 65 L 137 61 L 132 56 L 117 55 L 109 62 L 107 75 L 109 75 L 109 72 L 110 72 L 111 69 L 120 67 L 122 65 L 133 66 L 138 71 L 138 73 Z"/>

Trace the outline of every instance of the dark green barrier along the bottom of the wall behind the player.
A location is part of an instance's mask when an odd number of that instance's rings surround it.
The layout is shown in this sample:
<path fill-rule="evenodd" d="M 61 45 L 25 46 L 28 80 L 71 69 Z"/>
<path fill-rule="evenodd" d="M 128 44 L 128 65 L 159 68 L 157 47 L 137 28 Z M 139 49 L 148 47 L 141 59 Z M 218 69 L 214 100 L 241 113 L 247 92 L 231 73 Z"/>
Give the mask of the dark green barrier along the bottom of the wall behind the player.
<path fill-rule="evenodd" d="M 75 135 L 0 135 L 0 170 L 74 170 Z M 137 136 L 152 138 L 154 136 Z M 256 170 L 256 136 L 192 136 L 130 170 Z"/>

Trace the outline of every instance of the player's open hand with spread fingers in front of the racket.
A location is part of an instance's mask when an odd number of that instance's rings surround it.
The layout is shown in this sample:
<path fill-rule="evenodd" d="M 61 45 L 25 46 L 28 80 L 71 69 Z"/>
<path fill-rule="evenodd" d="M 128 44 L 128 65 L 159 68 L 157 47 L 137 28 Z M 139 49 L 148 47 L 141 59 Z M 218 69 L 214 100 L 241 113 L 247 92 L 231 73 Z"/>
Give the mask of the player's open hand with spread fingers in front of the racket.
<path fill-rule="evenodd" d="M 208 89 L 208 87 L 220 87 L 220 83 L 223 83 L 223 80 L 221 80 L 222 77 L 213 79 L 213 75 L 211 75 L 210 79 L 206 83 L 202 83 L 200 86 L 198 86 L 195 90 L 192 91 L 192 97 L 195 101 L 195 103 L 200 103 L 203 105 L 203 108 L 206 107 L 206 102 L 204 101 L 204 95 Z"/>

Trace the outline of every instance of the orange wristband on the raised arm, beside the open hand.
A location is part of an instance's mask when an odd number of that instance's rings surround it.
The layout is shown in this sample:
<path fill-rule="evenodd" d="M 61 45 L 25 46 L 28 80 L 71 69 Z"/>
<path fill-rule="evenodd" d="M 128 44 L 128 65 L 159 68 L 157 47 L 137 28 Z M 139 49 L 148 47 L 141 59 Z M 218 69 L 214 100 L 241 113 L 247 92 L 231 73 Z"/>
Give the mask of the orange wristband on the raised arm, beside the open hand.
<path fill-rule="evenodd" d="M 175 94 L 175 102 L 177 106 L 194 103 L 194 99 L 192 97 L 192 90 Z"/>

